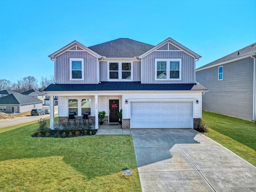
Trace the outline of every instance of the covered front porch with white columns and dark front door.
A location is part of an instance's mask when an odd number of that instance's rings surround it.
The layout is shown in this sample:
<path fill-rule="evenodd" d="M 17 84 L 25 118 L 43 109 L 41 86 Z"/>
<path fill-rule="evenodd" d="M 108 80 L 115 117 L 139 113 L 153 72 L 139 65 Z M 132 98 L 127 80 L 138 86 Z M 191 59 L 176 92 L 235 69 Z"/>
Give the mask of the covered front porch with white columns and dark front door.
<path fill-rule="evenodd" d="M 54 97 L 58 96 L 58 124 L 66 124 L 69 120 L 69 115 L 74 114 L 76 123 L 80 123 L 83 114 L 88 114 L 88 120 L 93 128 L 100 128 L 99 112 L 106 112 L 102 119 L 104 125 L 119 125 L 117 112 L 122 109 L 122 95 L 114 94 L 88 94 L 88 93 L 52 93 L 50 96 L 50 109 L 54 111 Z M 54 128 L 54 114 L 50 114 L 50 128 Z"/>

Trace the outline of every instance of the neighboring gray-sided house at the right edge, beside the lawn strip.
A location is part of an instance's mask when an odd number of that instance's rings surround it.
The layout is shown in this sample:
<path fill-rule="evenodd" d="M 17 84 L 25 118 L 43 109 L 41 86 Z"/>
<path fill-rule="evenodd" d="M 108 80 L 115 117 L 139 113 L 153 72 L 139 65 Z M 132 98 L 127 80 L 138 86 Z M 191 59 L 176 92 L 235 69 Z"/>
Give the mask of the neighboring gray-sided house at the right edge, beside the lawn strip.
<path fill-rule="evenodd" d="M 209 89 L 203 110 L 255 121 L 255 55 L 256 43 L 196 69 L 196 81 Z"/>

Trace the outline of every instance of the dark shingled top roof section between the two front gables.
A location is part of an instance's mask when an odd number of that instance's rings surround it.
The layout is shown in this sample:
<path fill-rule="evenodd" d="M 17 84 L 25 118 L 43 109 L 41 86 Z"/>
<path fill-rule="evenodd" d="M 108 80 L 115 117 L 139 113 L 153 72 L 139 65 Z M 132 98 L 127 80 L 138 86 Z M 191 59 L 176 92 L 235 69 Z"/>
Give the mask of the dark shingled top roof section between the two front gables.
<path fill-rule="evenodd" d="M 107 58 L 134 58 L 154 47 L 128 38 L 119 38 L 102 44 L 88 47 Z"/>

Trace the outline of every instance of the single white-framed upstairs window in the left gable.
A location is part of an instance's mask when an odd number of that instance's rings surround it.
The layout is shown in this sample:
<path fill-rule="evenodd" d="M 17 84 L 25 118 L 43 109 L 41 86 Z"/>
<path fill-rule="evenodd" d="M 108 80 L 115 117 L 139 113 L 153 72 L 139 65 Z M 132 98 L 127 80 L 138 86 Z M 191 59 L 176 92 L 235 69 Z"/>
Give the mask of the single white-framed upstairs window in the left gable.
<path fill-rule="evenodd" d="M 84 58 L 70 58 L 70 80 L 84 80 Z"/>

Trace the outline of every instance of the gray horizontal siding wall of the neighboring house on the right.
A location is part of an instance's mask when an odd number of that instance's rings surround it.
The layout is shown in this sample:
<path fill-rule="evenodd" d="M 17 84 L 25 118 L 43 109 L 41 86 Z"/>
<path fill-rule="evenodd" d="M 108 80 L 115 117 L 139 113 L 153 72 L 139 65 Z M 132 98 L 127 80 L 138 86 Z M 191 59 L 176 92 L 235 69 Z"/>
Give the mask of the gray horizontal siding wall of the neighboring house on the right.
<path fill-rule="evenodd" d="M 218 80 L 219 66 L 196 72 L 196 81 L 209 90 L 202 96 L 202 109 L 252 120 L 253 59 L 220 66 L 223 66 L 223 80 Z"/>

